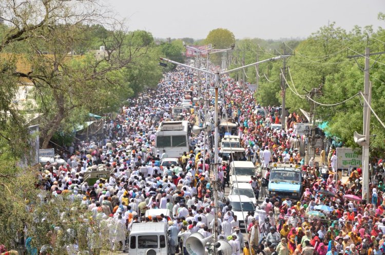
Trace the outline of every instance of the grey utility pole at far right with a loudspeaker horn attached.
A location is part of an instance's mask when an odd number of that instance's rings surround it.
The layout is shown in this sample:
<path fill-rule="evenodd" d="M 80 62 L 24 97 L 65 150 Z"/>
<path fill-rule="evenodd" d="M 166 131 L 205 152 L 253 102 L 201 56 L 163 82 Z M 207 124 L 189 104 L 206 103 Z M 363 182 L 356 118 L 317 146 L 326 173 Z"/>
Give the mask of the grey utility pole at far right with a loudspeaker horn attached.
<path fill-rule="evenodd" d="M 368 41 L 369 42 L 369 41 Z M 368 43 L 369 44 L 369 43 Z M 368 104 L 371 105 L 372 101 L 372 87 L 370 83 L 370 56 L 384 54 L 385 51 L 370 53 L 369 47 L 365 48 L 365 54 L 358 54 L 354 56 L 348 56 L 350 59 L 365 58 L 364 79 L 363 79 L 363 96 Z M 357 63 L 358 64 L 358 63 Z M 362 69 L 362 68 L 361 68 Z M 362 199 L 370 201 L 369 183 L 370 183 L 370 163 L 369 163 L 369 145 L 370 145 L 370 115 L 371 111 L 368 104 L 363 102 L 363 136 L 364 139 L 356 141 L 362 146 Z"/>

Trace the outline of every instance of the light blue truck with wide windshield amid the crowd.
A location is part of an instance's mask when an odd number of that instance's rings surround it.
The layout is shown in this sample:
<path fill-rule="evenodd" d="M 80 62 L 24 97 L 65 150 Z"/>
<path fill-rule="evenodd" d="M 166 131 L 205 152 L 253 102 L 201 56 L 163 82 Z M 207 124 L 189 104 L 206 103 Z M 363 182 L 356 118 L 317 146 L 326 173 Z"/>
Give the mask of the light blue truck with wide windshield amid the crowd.
<path fill-rule="evenodd" d="M 280 198 L 290 197 L 294 200 L 302 196 L 302 175 L 296 168 L 279 167 L 270 172 L 268 195 Z"/>

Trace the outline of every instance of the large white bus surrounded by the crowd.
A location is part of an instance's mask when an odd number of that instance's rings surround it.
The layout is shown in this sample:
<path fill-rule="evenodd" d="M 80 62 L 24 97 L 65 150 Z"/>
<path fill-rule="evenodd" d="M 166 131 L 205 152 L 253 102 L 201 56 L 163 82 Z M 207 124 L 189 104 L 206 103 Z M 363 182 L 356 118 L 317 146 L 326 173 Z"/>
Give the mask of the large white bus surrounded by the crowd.
<path fill-rule="evenodd" d="M 156 133 L 155 147 L 160 153 L 165 150 L 169 158 L 179 158 L 189 151 L 189 134 L 188 121 L 162 121 Z"/>

